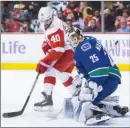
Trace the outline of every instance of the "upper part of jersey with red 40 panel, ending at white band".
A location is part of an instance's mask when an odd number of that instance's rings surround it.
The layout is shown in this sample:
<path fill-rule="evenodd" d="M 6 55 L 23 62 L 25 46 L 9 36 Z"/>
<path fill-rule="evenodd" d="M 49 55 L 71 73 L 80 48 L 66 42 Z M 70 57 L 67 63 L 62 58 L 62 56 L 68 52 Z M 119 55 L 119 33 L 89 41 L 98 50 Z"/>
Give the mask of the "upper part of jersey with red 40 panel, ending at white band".
<path fill-rule="evenodd" d="M 66 31 L 67 27 L 68 25 L 57 17 L 54 17 L 52 24 L 47 30 L 41 25 L 41 29 L 45 34 L 45 39 L 48 41 L 51 48 L 61 52 L 67 49 L 73 49 L 71 46 L 72 40 L 70 40 Z"/>

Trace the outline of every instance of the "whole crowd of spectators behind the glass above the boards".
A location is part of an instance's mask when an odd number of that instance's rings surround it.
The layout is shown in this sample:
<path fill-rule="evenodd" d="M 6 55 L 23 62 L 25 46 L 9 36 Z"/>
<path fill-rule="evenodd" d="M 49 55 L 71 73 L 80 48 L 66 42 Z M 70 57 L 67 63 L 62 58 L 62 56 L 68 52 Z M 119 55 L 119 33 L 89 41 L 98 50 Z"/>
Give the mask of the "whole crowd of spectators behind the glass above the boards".
<path fill-rule="evenodd" d="M 101 32 L 100 1 L 3 1 L 1 32 L 40 32 L 37 20 L 41 7 L 52 6 L 56 15 L 83 32 Z M 105 32 L 130 32 L 130 1 L 104 2 Z"/>

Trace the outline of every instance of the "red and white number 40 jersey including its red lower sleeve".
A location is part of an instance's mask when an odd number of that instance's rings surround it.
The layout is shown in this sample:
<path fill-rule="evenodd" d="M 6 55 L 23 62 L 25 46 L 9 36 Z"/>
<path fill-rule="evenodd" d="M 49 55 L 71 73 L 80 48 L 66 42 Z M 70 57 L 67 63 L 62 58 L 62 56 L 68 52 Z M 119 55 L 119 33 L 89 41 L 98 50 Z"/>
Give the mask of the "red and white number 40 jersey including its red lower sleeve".
<path fill-rule="evenodd" d="M 44 32 L 45 40 L 50 46 L 49 52 L 44 58 L 45 61 L 56 61 L 66 50 L 73 50 L 73 42 L 69 37 L 69 33 L 67 33 L 68 28 L 69 26 L 57 17 L 54 17 L 51 25 L 46 30 L 41 23 L 40 29 Z M 42 46 L 44 47 L 45 44 Z"/>

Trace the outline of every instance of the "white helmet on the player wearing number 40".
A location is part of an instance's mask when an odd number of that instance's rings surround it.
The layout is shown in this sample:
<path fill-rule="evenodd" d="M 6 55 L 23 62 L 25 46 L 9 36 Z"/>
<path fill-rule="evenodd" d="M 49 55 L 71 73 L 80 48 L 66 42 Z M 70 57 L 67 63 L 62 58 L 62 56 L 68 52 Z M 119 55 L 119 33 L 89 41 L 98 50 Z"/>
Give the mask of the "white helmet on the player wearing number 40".
<path fill-rule="evenodd" d="M 51 7 L 41 7 L 38 13 L 38 20 L 44 25 L 50 24 L 53 20 L 54 11 Z"/>

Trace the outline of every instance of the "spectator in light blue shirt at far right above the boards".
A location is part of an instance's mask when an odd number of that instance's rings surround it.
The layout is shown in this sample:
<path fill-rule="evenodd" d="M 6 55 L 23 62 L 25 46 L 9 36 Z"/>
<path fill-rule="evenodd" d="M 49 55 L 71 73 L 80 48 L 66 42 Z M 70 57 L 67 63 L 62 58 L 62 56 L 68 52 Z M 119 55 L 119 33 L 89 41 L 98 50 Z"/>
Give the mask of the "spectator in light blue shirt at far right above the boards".
<path fill-rule="evenodd" d="M 117 29 L 117 32 L 130 32 L 130 27 L 127 26 L 126 18 L 121 18 L 121 27 Z"/>

